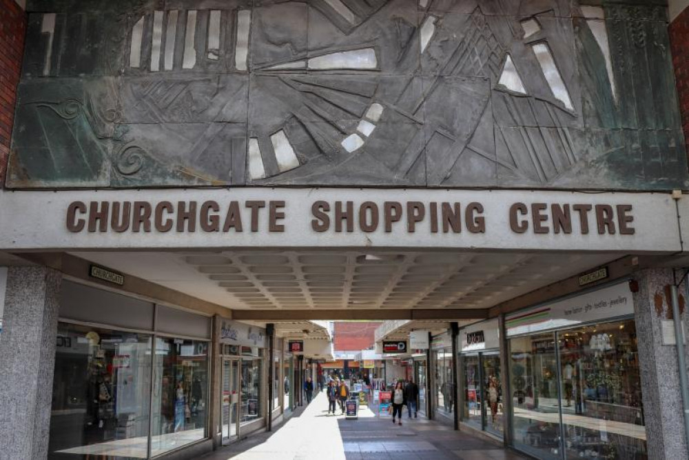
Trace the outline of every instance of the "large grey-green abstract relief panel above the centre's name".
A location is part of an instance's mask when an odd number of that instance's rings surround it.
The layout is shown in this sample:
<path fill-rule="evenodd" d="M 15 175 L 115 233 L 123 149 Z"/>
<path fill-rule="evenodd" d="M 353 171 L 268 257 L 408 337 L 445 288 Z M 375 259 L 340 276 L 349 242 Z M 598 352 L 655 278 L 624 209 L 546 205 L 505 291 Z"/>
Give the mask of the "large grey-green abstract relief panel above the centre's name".
<path fill-rule="evenodd" d="M 590 3 L 28 1 L 7 186 L 686 186 L 665 6 Z"/>

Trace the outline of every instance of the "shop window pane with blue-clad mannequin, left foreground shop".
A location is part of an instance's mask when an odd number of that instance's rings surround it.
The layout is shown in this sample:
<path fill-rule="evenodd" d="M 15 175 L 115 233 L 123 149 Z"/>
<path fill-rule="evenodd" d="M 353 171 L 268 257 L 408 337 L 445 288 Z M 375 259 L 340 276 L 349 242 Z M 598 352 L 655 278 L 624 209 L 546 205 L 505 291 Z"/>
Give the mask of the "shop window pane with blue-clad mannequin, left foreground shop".
<path fill-rule="evenodd" d="M 208 343 L 156 338 L 152 456 L 207 437 Z"/>

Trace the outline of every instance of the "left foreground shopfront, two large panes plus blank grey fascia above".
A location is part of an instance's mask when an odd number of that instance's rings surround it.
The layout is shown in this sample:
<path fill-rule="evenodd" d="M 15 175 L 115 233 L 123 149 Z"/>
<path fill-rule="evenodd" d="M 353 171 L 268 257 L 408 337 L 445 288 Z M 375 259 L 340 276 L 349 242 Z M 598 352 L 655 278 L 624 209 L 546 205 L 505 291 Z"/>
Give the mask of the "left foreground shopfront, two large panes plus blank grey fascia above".
<path fill-rule="evenodd" d="M 49 459 L 147 459 L 209 437 L 209 318 L 69 281 L 62 293 Z"/>

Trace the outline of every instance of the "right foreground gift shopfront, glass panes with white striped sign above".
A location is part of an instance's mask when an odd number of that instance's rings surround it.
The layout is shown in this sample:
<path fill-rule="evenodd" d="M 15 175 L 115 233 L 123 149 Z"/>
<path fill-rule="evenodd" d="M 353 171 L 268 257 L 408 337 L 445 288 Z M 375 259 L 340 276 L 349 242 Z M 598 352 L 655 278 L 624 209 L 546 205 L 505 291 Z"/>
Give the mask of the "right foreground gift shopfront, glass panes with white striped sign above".
<path fill-rule="evenodd" d="M 618 315 L 633 313 L 626 283 L 544 308 L 506 319 L 515 448 L 540 459 L 648 458 L 635 321 Z M 560 311 L 579 324 L 536 331 L 562 324 Z"/>

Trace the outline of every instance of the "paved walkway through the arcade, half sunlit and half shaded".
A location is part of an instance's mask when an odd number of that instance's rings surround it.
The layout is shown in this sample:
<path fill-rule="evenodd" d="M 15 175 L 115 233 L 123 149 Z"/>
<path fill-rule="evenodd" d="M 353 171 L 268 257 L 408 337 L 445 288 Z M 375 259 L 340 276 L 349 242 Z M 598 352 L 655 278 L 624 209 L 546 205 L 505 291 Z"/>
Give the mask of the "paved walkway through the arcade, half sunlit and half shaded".
<path fill-rule="evenodd" d="M 408 419 L 393 425 L 390 417 L 360 410 L 359 419 L 327 414 L 325 393 L 298 408 L 274 432 L 255 434 L 203 460 L 517 460 L 523 459 L 493 443 L 456 432 L 442 423 Z"/>

